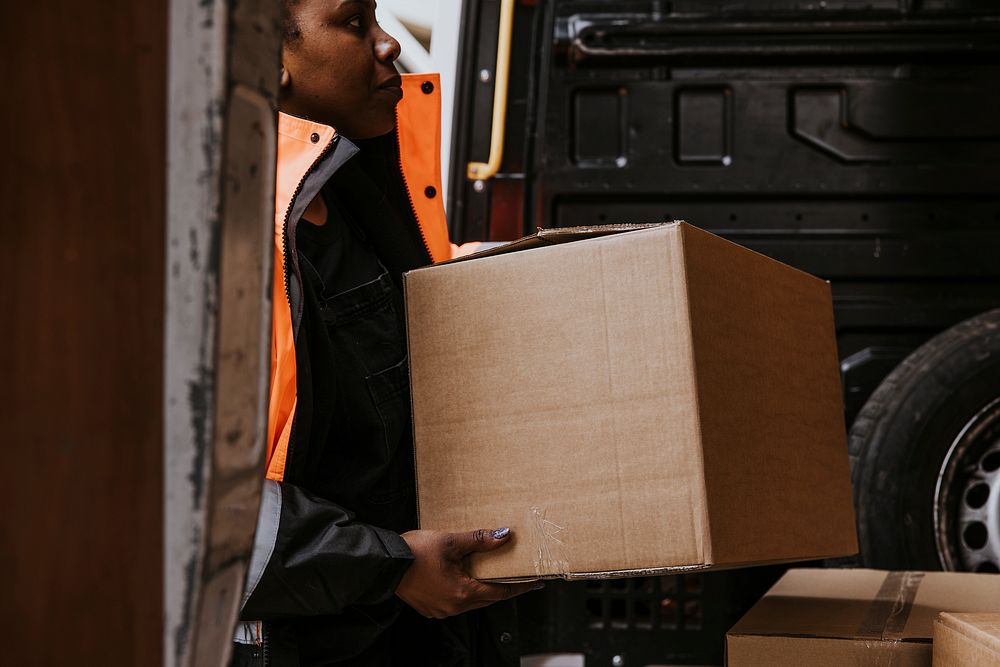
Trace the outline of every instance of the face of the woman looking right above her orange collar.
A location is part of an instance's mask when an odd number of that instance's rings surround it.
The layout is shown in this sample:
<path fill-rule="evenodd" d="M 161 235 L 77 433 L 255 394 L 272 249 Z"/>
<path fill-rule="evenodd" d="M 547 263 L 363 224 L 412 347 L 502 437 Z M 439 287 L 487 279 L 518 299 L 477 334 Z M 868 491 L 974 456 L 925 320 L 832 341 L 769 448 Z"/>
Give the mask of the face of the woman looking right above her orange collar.
<path fill-rule="evenodd" d="M 293 0 L 297 34 L 282 49 L 281 110 L 349 139 L 390 132 L 403 97 L 399 42 L 375 21 L 374 0 Z"/>

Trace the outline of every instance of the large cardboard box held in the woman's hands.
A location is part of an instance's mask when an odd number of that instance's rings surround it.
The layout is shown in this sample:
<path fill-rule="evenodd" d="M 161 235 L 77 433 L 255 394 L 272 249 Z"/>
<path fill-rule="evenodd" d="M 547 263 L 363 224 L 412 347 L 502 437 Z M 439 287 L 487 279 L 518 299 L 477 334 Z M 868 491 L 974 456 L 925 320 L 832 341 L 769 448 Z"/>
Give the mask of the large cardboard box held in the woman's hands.
<path fill-rule="evenodd" d="M 406 275 L 421 527 L 510 526 L 491 580 L 854 553 L 829 285 L 684 223 L 611 232 Z"/>

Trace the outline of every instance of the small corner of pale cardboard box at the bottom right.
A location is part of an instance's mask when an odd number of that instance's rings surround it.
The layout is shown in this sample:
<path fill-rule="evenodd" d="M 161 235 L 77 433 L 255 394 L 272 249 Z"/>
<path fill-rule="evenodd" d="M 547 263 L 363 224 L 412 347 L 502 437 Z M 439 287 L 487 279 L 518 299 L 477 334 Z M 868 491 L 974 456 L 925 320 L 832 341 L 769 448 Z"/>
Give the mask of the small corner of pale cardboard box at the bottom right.
<path fill-rule="evenodd" d="M 1000 614 L 938 616 L 934 667 L 1000 667 Z"/>

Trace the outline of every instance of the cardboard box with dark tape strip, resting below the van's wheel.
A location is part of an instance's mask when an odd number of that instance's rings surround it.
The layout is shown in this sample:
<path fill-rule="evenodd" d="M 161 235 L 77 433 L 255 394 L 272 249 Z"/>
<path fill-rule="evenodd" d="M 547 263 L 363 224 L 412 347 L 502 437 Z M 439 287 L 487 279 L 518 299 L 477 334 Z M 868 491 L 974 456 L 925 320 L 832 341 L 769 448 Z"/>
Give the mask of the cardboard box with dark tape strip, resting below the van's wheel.
<path fill-rule="evenodd" d="M 932 637 L 938 651 L 934 621 L 942 611 L 1000 612 L 1000 577 L 789 570 L 726 635 L 726 664 L 930 667 Z"/>

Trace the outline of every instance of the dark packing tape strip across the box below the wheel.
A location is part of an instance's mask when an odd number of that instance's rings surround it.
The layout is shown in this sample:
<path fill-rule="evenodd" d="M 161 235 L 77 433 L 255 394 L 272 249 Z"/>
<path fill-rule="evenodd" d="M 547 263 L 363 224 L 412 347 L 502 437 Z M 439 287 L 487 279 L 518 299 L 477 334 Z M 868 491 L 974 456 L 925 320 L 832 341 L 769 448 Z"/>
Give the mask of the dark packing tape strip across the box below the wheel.
<path fill-rule="evenodd" d="M 896 645 L 903 639 L 923 572 L 889 572 L 865 613 L 857 636 L 870 649 L 871 667 L 892 667 Z"/>

